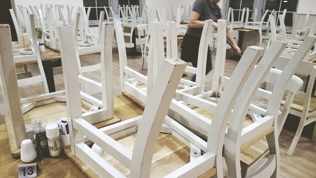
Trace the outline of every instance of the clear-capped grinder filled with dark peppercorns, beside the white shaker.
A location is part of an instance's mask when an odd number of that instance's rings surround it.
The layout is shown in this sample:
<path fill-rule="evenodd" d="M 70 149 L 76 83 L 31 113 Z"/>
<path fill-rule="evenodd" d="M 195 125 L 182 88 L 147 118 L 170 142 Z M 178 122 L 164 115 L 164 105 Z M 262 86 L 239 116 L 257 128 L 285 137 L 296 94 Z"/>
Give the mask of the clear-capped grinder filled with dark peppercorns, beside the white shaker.
<path fill-rule="evenodd" d="M 34 133 L 34 140 L 37 149 L 37 155 L 47 157 L 48 156 L 48 144 L 46 138 L 46 124 L 45 118 L 36 118 L 31 121 L 31 126 Z"/>

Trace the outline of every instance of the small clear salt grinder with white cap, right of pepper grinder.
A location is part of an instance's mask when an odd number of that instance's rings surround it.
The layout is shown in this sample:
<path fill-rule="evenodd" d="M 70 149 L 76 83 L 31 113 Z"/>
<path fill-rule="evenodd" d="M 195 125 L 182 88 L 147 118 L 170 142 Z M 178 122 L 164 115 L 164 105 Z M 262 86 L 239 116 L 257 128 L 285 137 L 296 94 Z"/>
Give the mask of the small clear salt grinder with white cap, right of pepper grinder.
<path fill-rule="evenodd" d="M 46 126 L 46 137 L 48 142 L 49 155 L 56 157 L 60 155 L 61 146 L 59 139 L 59 130 L 57 124 L 47 124 Z"/>

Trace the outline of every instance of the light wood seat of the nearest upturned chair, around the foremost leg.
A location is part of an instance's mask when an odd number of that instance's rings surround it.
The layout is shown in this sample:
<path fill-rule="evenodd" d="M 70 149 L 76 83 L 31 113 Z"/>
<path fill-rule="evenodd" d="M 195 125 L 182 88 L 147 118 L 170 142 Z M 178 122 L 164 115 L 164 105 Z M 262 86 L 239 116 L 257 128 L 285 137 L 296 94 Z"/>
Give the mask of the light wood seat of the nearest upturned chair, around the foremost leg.
<path fill-rule="evenodd" d="M 124 147 L 132 151 L 135 143 L 136 133 L 137 132 L 130 133 L 116 140 Z M 125 176 L 130 175 L 130 169 L 126 168 L 122 163 L 114 159 L 108 153 L 104 152 L 102 158 L 117 168 Z M 172 134 L 160 133 L 155 145 L 150 177 L 164 177 L 189 162 L 190 148 Z M 210 170 L 212 170 L 212 174 L 208 174 L 205 177 L 211 177 L 215 175 L 216 171 L 214 168 Z"/>

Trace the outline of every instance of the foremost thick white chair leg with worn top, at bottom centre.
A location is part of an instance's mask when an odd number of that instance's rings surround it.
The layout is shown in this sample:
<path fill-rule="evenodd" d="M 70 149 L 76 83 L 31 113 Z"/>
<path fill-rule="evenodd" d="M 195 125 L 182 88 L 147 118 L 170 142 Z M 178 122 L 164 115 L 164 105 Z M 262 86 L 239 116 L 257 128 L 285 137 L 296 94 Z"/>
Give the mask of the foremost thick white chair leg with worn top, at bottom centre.
<path fill-rule="evenodd" d="M 146 120 L 140 124 L 134 145 L 130 177 L 149 177 L 155 141 L 169 104 L 185 70 L 182 60 L 164 61 L 149 95 L 149 103 L 143 113 Z M 166 79 L 171 79 L 167 81 Z M 156 86 L 157 85 L 157 86 Z M 159 86 L 159 87 L 158 87 Z M 159 127 L 158 127 L 159 126 Z"/>

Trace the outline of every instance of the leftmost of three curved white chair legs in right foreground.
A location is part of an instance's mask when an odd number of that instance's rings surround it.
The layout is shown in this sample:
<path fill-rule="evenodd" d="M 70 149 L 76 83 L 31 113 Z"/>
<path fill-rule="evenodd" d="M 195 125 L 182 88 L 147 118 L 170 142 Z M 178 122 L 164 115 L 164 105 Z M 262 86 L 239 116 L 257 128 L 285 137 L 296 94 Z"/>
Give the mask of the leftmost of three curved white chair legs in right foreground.
<path fill-rule="evenodd" d="M 212 151 L 216 154 L 216 156 L 222 155 L 226 126 L 228 124 L 231 111 L 237 98 L 239 98 L 241 89 L 262 54 L 263 48 L 252 46 L 246 49 L 244 55 L 237 64 L 231 79 L 228 81 L 229 87 L 224 89 L 222 95 L 223 97 L 221 97 L 217 103 L 207 140 L 208 151 Z M 222 162 L 222 160 L 216 159 L 216 165 L 221 165 L 220 162 Z"/>

